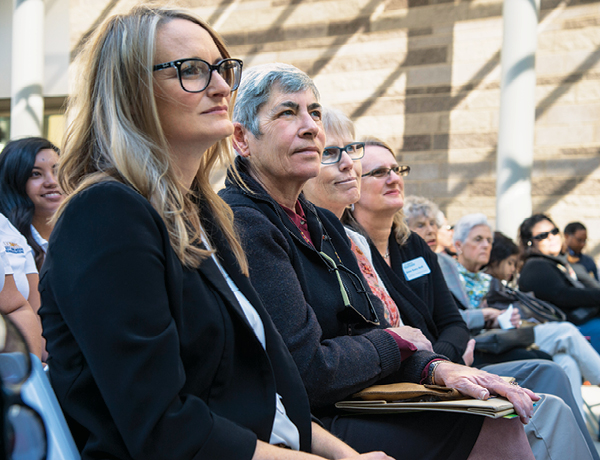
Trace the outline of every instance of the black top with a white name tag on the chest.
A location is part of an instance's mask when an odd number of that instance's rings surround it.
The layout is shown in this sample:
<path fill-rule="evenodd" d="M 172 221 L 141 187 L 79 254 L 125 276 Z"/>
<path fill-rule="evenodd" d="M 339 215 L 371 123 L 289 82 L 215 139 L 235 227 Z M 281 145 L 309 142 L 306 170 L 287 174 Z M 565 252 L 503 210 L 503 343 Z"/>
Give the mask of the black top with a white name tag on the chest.
<path fill-rule="evenodd" d="M 411 233 L 400 246 L 390 234 L 390 267 L 371 244 L 373 264 L 390 296 L 396 302 L 402 321 L 418 328 L 433 344 L 436 353 L 463 364 L 462 355 L 470 338 L 452 294 L 440 269 L 435 253 L 416 233 Z M 423 257 L 431 273 L 407 281 L 402 270 L 404 262 Z"/>

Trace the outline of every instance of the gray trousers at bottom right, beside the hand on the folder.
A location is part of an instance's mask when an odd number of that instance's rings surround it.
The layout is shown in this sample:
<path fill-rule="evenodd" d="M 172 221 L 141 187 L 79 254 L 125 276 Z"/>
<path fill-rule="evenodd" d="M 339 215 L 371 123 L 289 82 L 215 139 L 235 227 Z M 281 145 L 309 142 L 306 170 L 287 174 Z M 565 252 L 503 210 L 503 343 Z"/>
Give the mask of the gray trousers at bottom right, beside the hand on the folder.
<path fill-rule="evenodd" d="M 533 418 L 525 425 L 537 460 L 600 460 L 569 379 L 559 365 L 549 360 L 510 361 L 485 366 L 482 370 L 515 377 L 522 387 L 538 394 L 546 393 L 537 403 Z"/>

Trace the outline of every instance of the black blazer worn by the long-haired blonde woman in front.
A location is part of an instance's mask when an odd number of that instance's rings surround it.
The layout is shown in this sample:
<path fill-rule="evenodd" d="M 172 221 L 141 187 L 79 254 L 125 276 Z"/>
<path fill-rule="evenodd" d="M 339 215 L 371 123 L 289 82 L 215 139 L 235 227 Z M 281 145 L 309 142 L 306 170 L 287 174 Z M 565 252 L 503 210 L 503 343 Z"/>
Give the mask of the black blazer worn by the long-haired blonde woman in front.
<path fill-rule="evenodd" d="M 116 182 L 67 206 L 40 277 L 50 377 L 84 459 L 251 458 L 275 393 L 310 450 L 306 392 L 224 239 L 225 270 L 260 314 L 267 352 L 211 259 L 182 266 L 150 203 Z"/>

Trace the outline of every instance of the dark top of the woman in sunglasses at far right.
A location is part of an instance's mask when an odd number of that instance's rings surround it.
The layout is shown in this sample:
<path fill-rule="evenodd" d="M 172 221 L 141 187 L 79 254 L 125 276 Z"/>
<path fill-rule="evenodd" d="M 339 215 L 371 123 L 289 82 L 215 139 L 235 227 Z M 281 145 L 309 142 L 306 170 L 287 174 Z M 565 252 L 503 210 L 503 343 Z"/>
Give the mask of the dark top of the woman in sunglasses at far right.
<path fill-rule="evenodd" d="M 568 276 L 567 268 L 556 257 L 542 254 L 528 257 L 519 276 L 519 289 L 552 302 L 575 324 L 581 323 L 581 316 L 577 315 L 579 308 L 597 314 L 600 307 L 600 289 L 581 287 L 580 283 Z"/>

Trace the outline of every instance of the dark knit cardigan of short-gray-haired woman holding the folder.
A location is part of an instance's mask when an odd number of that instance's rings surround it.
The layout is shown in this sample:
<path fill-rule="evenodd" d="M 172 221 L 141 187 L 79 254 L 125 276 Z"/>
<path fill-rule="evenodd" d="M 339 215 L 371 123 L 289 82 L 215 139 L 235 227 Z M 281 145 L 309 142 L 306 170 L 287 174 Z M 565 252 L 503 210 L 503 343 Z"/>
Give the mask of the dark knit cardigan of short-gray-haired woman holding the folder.
<path fill-rule="evenodd" d="M 388 377 L 418 382 L 437 355 L 417 352 L 401 364 L 395 340 L 375 326 L 367 297 L 382 321 L 383 305 L 362 277 L 346 233 L 331 212 L 300 197 L 310 236 L 306 243 L 284 210 L 247 173 L 236 167 L 251 191 L 229 175 L 221 196 L 232 207 L 250 264 L 252 284 L 261 295 L 298 368 L 313 410 L 323 409 Z M 345 308 L 336 273 L 319 255 L 338 265 L 352 306 Z M 352 272 L 352 274 L 350 274 Z"/>

